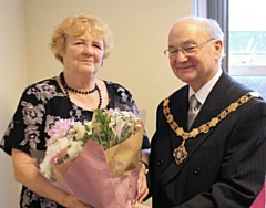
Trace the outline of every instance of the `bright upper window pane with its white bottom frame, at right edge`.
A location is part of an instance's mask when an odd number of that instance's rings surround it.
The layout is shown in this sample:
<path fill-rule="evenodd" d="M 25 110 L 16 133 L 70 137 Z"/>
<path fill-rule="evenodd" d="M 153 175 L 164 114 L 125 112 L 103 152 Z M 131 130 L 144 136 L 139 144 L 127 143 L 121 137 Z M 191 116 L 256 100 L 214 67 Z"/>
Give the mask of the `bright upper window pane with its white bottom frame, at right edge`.
<path fill-rule="evenodd" d="M 229 73 L 266 75 L 264 0 L 234 0 L 228 3 Z"/>

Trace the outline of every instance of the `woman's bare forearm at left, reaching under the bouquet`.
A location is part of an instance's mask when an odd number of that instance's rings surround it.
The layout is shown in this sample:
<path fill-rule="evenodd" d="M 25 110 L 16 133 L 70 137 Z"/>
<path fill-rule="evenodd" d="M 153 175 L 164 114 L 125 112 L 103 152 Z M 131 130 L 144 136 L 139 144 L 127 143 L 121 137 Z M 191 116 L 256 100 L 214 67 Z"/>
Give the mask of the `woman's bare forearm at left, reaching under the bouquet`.
<path fill-rule="evenodd" d="M 52 185 L 38 169 L 28 154 L 12 148 L 14 179 L 38 195 L 57 201 L 68 208 L 88 208 L 74 196 Z"/>

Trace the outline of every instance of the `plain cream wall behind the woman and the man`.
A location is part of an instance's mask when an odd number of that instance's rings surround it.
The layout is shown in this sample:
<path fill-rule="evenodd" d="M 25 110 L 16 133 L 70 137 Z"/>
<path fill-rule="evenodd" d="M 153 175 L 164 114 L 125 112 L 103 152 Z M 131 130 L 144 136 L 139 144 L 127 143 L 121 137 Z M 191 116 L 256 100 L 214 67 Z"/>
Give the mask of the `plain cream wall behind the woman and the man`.
<path fill-rule="evenodd" d="M 0 6 L 1 135 L 25 85 L 62 70 L 49 50 L 52 30 L 80 10 L 101 17 L 113 31 L 115 50 L 99 77 L 132 92 L 140 108 L 146 110 L 146 131 L 152 137 L 157 104 L 183 84 L 173 75 L 163 51 L 174 21 L 191 13 L 191 1 L 0 0 Z M 0 207 L 19 207 L 11 159 L 2 150 L 0 167 Z"/>

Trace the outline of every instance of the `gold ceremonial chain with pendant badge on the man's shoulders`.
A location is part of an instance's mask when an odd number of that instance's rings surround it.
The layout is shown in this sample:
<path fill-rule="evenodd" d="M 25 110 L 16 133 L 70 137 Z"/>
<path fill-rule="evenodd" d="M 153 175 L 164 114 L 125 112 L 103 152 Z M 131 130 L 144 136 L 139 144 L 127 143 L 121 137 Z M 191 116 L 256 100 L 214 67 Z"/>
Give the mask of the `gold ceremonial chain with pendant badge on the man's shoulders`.
<path fill-rule="evenodd" d="M 228 107 L 226 107 L 224 111 L 222 111 L 217 117 L 213 117 L 209 122 L 202 124 L 197 128 L 193 128 L 191 132 L 184 132 L 184 128 L 180 127 L 178 124 L 174 121 L 174 117 L 171 114 L 170 107 L 168 107 L 170 100 L 168 100 L 168 97 L 166 97 L 163 103 L 163 113 L 164 113 L 171 128 L 175 132 L 175 134 L 177 136 L 181 136 L 183 138 L 182 144 L 177 148 L 175 148 L 173 152 L 175 163 L 177 165 L 180 165 L 187 157 L 187 152 L 185 149 L 186 139 L 194 138 L 201 133 L 207 134 L 209 128 L 215 127 L 231 112 L 236 111 L 237 107 L 239 107 L 244 103 L 247 103 L 250 98 L 254 98 L 254 97 L 259 97 L 259 94 L 256 92 L 250 92 L 250 93 L 243 95 L 236 102 L 232 103 Z"/>

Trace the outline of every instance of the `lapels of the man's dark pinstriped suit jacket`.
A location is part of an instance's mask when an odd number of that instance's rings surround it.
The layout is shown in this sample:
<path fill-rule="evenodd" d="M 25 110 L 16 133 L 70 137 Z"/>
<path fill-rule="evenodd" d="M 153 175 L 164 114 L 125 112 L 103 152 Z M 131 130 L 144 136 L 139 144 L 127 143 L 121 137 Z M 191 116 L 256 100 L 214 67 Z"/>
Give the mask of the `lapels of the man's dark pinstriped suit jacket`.
<path fill-rule="evenodd" d="M 222 100 L 228 82 L 229 82 L 228 75 L 223 73 L 223 75 L 217 81 L 216 85 L 213 87 L 209 95 L 207 96 L 192 127 L 198 127 L 202 124 L 209 122 L 211 118 L 217 116 L 221 113 L 221 111 L 223 111 Z M 185 131 L 187 131 L 186 129 L 187 106 L 188 106 L 187 92 L 188 92 L 188 87 L 183 94 L 181 94 L 181 96 L 173 98 L 176 102 L 175 105 L 170 105 L 170 110 L 172 110 L 171 113 L 174 115 L 174 119 L 176 121 L 178 126 L 185 126 L 184 127 Z M 172 98 L 170 102 L 172 102 Z M 175 107 L 175 108 L 172 108 L 172 107 Z M 177 112 L 177 113 L 174 113 L 174 112 Z M 161 180 L 160 180 L 161 187 L 163 187 L 165 184 L 167 184 L 170 180 L 172 180 L 182 171 L 182 169 L 186 166 L 186 164 L 192 158 L 195 150 L 204 141 L 207 139 L 207 137 L 212 134 L 213 129 L 214 128 L 211 128 L 207 134 L 200 134 L 195 138 L 190 138 L 191 141 L 190 142 L 187 141 L 185 143 L 185 148 L 187 150 L 187 158 L 182 164 L 176 165 L 173 157 L 172 164 L 168 166 L 168 168 L 165 170 L 165 173 L 161 177 Z M 177 148 L 182 142 L 181 137 L 177 137 L 173 131 L 171 132 L 170 135 L 171 135 L 171 144 L 173 149 Z"/>

